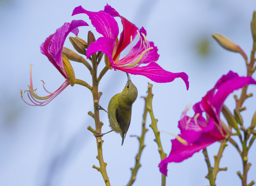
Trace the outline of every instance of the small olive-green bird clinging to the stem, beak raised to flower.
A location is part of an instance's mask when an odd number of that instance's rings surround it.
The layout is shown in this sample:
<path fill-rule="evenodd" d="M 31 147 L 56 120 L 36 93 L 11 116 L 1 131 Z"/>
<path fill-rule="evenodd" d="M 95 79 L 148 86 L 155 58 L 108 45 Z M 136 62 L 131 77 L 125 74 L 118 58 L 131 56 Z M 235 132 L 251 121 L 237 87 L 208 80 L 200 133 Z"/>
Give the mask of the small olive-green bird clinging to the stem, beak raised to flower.
<path fill-rule="evenodd" d="M 110 127 L 113 131 L 120 133 L 122 145 L 131 122 L 131 107 L 138 96 L 138 90 L 131 82 L 129 74 L 126 72 L 128 81 L 124 90 L 113 96 L 107 107 L 109 113 Z"/>

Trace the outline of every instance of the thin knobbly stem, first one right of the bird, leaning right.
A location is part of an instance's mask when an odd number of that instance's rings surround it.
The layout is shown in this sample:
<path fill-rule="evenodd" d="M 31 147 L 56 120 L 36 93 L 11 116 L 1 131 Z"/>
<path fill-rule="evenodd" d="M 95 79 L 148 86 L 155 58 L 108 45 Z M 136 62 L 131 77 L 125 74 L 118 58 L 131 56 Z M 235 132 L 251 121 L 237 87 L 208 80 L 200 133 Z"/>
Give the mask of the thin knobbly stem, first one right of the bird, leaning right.
<path fill-rule="evenodd" d="M 131 186 L 133 184 L 133 182 L 136 179 L 137 172 L 138 172 L 139 168 L 141 167 L 140 157 L 141 157 L 142 150 L 145 147 L 145 144 L 144 144 L 145 133 L 148 130 L 145 128 L 146 114 L 147 114 L 146 104 L 147 104 L 147 99 L 145 98 L 145 109 L 144 109 L 143 121 L 142 121 L 142 133 L 141 133 L 141 137 L 138 137 L 139 143 L 140 143 L 139 152 L 136 156 L 135 166 L 134 166 L 134 168 L 131 168 L 131 178 L 130 178 L 130 181 L 128 182 L 127 186 Z"/>

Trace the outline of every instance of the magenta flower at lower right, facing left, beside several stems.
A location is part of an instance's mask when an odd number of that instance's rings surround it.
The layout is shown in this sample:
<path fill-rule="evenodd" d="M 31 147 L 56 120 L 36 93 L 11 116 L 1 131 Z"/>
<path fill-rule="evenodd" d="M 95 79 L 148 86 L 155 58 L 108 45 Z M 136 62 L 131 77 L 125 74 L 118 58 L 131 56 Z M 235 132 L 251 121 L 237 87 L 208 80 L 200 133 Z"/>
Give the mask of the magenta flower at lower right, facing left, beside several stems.
<path fill-rule="evenodd" d="M 230 129 L 222 125 L 220 120 L 223 103 L 234 90 L 249 84 L 256 84 L 256 81 L 250 76 L 240 77 L 237 73 L 230 71 L 223 75 L 206 96 L 193 106 L 194 117 L 186 116 L 186 111 L 183 113 L 178 125 L 181 130 L 179 138 L 182 138 L 183 142 L 177 138 L 171 140 L 171 152 L 159 164 L 162 174 L 167 176 L 168 163 L 182 162 L 195 152 L 230 136 Z M 207 119 L 203 114 L 206 114 Z"/>

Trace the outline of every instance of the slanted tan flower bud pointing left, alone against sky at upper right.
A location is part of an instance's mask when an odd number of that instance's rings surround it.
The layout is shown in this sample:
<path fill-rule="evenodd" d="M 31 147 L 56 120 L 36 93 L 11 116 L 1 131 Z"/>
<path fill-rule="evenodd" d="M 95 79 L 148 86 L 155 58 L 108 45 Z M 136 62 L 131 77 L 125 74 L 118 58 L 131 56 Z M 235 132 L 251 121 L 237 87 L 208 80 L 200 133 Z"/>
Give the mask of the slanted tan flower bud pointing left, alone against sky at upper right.
<path fill-rule="evenodd" d="M 213 34 L 212 37 L 226 50 L 232 51 L 232 52 L 238 52 L 244 57 L 245 60 L 247 60 L 247 56 L 245 52 L 235 44 L 230 39 L 226 38 L 225 36 L 222 36 L 221 34 Z"/>

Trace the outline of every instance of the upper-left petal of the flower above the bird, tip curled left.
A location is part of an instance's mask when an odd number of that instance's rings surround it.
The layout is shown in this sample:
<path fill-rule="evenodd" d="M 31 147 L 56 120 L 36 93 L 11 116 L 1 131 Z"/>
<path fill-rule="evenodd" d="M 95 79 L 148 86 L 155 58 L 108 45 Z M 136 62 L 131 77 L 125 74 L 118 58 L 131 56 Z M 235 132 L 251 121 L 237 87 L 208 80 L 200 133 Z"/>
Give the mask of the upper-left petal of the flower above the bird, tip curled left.
<path fill-rule="evenodd" d="M 89 16 L 91 24 L 96 28 L 97 32 L 104 37 L 116 39 L 118 36 L 118 25 L 116 20 L 104 11 L 92 12 L 85 10 L 82 6 L 78 6 L 73 10 L 72 15 L 85 13 Z"/>

